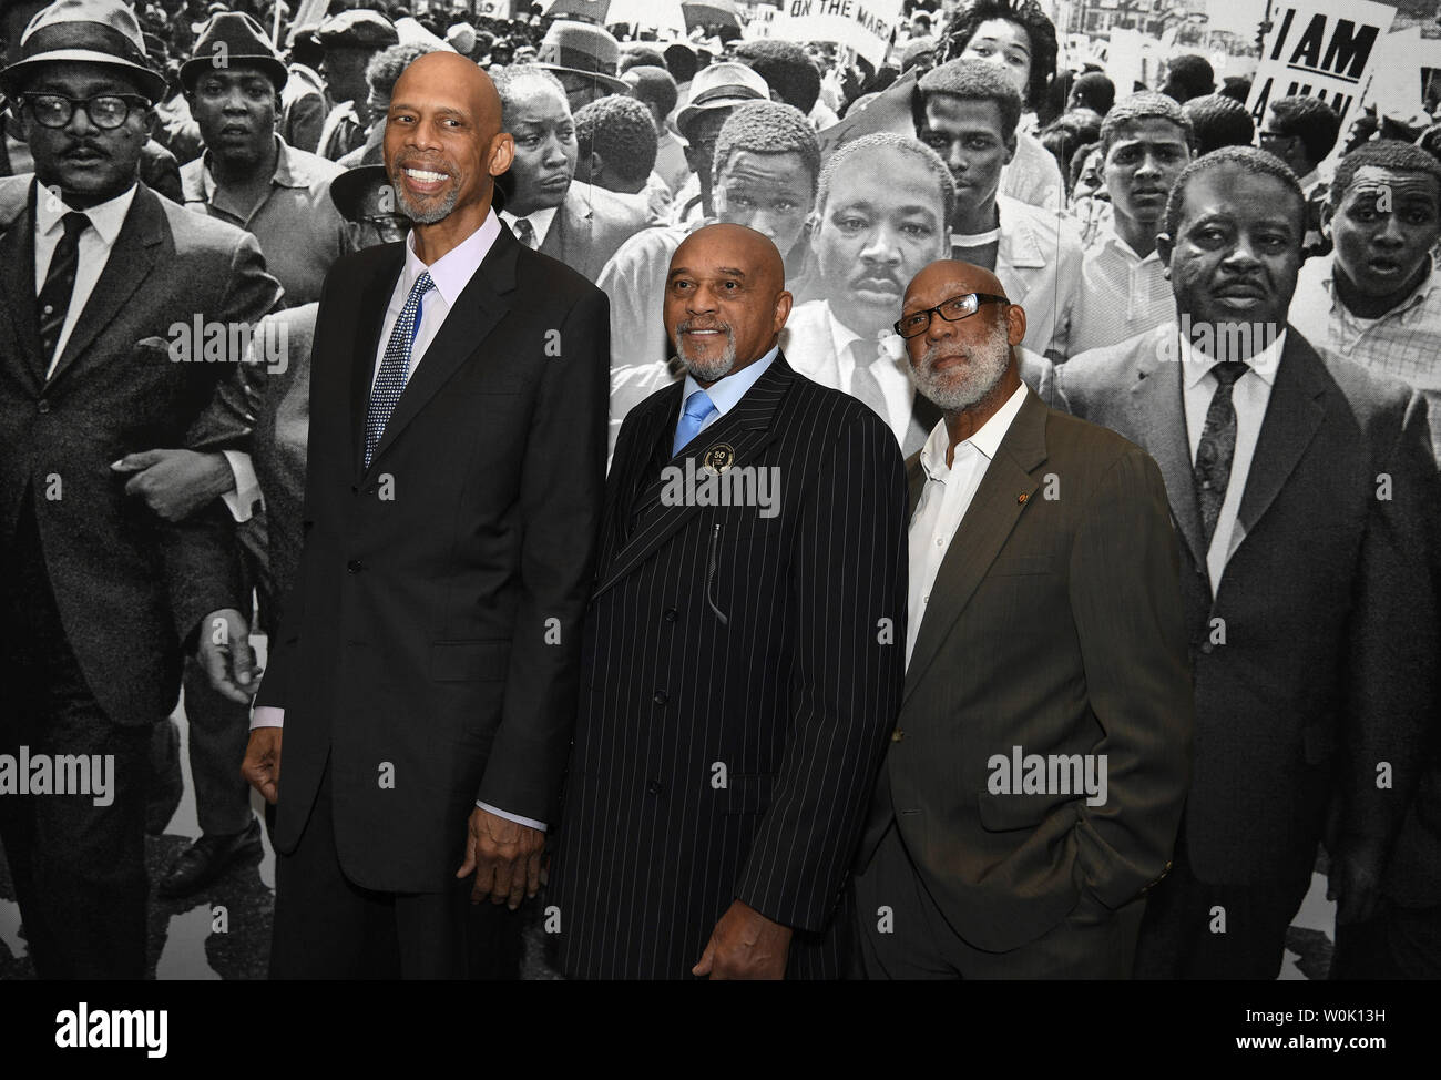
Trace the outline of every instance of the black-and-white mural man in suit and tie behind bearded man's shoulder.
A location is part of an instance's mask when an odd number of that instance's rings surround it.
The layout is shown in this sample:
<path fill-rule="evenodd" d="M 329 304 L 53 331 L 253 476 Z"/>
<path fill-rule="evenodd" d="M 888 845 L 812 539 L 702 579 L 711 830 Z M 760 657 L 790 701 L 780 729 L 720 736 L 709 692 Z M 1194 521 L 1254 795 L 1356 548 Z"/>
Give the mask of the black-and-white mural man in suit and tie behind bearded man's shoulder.
<path fill-rule="evenodd" d="M 1183 541 L 1195 764 L 1141 978 L 1274 979 L 1323 839 L 1337 923 L 1368 919 L 1435 720 L 1425 399 L 1287 326 L 1304 232 L 1271 154 L 1192 161 L 1156 238 L 1179 324 L 1058 379 L 1156 459 Z"/>

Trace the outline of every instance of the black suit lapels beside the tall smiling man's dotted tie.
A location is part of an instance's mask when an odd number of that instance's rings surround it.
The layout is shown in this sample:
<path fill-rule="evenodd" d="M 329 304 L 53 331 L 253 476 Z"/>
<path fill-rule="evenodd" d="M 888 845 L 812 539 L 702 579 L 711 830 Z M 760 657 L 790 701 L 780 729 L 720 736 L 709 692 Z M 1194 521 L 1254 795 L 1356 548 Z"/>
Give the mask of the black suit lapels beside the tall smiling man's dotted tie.
<path fill-rule="evenodd" d="M 520 242 L 504 229 L 496 236 L 480 268 L 471 275 L 455 306 L 441 323 L 435 340 L 425 349 L 424 360 L 415 366 L 405 389 L 401 391 L 401 399 L 395 402 L 395 410 L 391 412 L 385 431 L 380 433 L 380 441 L 375 447 L 375 454 L 370 457 L 372 469 L 440 388 L 465 360 L 484 348 L 486 337 L 510 309 L 507 294 L 516 287 L 516 251 L 519 247 Z M 395 288 L 393 278 L 391 287 Z M 383 311 L 385 307 L 380 310 Z M 375 343 L 379 346 L 379 333 L 375 333 Z M 369 375 L 375 368 L 375 350 L 369 356 L 360 356 L 359 360 Z M 363 440 L 365 418 L 362 417 L 360 460 L 363 460 Z"/>

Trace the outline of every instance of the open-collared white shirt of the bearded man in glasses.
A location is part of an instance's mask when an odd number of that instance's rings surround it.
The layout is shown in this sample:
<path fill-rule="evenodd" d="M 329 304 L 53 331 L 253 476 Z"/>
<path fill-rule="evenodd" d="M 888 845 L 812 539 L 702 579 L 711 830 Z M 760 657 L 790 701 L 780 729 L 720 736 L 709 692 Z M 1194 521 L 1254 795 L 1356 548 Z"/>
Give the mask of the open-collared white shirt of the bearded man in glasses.
<path fill-rule="evenodd" d="M 911 653 L 921 636 L 921 620 L 931 601 L 931 588 L 941 562 L 951 546 L 955 531 L 971 508 L 976 489 L 1000 448 L 1000 441 L 1010 430 L 1010 422 L 1026 401 L 1026 385 L 1006 398 L 1006 404 L 981 424 L 980 431 L 957 444 L 953 464 L 945 464 L 945 450 L 951 444 L 951 433 L 945 420 L 931 428 L 931 435 L 921 447 L 921 469 L 925 470 L 925 486 L 911 516 L 911 588 L 906 603 L 905 663 L 911 666 Z"/>

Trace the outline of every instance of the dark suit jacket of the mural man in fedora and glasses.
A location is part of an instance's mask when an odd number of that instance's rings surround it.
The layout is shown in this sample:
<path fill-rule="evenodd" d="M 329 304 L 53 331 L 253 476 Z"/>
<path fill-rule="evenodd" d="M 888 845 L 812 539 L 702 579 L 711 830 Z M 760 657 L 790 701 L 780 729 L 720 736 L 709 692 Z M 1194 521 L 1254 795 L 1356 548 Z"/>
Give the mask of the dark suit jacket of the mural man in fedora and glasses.
<path fill-rule="evenodd" d="M 118 724 L 163 720 L 182 642 L 222 607 L 248 611 L 223 505 L 180 525 L 125 495 L 111 461 L 184 446 L 226 363 L 174 362 L 171 327 L 254 323 L 280 298 L 255 238 L 144 183 L 49 381 L 35 310 L 33 174 L 0 180 L 0 552 L 33 487 L 66 636 Z"/>

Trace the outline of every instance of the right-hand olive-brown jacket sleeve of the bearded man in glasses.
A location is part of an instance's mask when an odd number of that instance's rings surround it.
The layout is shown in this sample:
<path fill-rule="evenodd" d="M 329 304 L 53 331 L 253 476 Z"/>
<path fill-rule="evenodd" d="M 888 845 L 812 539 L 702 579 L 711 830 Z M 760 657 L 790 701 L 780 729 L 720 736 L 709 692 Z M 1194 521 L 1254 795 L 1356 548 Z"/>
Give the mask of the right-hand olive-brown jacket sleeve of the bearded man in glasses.
<path fill-rule="evenodd" d="M 1190 786 L 1195 698 L 1166 482 L 1130 447 L 1091 495 L 1071 549 L 1071 611 L 1107 799 L 1076 802 L 1084 888 L 1120 907 L 1164 874 Z"/>

